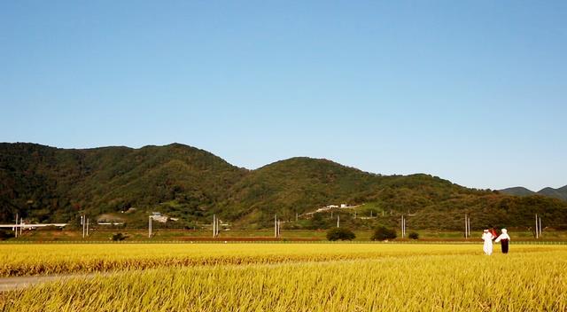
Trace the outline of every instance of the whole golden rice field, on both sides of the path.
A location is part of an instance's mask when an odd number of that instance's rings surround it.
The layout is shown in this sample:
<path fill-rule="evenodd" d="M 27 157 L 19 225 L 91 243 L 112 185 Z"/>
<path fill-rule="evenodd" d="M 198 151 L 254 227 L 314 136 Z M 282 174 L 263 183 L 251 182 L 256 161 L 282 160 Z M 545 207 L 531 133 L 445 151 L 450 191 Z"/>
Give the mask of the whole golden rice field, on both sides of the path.
<path fill-rule="evenodd" d="M 4 269 L 41 261 L 129 269 L 4 292 L 0 310 L 567 310 L 566 246 L 511 246 L 506 255 L 497 247 L 485 256 L 481 245 L 0 246 Z M 179 262 L 136 269 L 152 258 Z"/>

